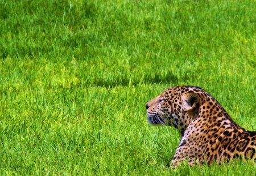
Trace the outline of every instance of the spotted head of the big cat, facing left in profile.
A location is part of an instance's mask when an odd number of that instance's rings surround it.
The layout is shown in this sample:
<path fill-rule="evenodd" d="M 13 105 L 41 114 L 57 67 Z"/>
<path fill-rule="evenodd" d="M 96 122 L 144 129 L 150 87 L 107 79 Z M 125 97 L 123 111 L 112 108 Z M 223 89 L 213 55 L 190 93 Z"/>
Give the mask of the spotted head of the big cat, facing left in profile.
<path fill-rule="evenodd" d="M 147 121 L 154 126 L 174 126 L 184 131 L 199 111 L 200 96 L 195 87 L 172 87 L 146 104 Z"/>

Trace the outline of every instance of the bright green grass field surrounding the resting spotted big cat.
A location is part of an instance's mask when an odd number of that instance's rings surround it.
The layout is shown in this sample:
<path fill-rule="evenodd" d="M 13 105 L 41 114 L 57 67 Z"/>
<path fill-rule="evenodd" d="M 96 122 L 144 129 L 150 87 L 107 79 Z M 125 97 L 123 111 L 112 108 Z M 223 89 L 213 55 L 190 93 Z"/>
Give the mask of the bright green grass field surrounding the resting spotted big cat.
<path fill-rule="evenodd" d="M 144 105 L 198 85 L 256 131 L 256 3 L 0 1 L 1 175 L 255 175 L 168 168 L 180 135 Z"/>

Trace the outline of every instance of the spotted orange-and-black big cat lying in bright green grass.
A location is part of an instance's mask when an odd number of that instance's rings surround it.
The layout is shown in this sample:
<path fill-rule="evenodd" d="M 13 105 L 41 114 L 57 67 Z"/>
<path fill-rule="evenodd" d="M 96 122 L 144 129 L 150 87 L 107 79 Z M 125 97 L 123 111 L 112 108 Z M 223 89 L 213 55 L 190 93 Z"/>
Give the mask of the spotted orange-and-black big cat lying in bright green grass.
<path fill-rule="evenodd" d="M 238 126 L 208 92 L 190 85 L 166 89 L 146 103 L 147 122 L 172 126 L 181 138 L 171 162 L 177 168 L 221 164 L 230 161 L 256 162 L 256 131 Z"/>

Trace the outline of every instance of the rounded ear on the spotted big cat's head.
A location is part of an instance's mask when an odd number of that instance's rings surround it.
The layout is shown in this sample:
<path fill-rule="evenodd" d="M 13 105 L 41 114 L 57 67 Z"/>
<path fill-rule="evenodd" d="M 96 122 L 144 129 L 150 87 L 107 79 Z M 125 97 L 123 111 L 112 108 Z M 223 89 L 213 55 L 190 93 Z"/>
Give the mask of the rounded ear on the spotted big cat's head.
<path fill-rule="evenodd" d="M 183 102 L 183 107 L 185 110 L 195 110 L 198 108 L 200 97 L 196 93 L 185 93 L 181 97 L 181 100 Z"/>

